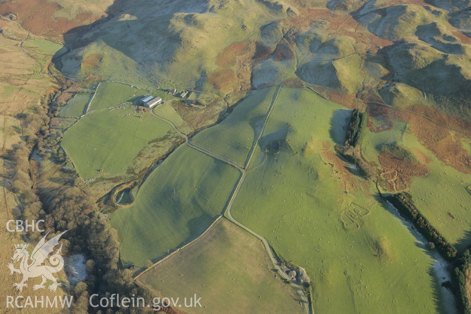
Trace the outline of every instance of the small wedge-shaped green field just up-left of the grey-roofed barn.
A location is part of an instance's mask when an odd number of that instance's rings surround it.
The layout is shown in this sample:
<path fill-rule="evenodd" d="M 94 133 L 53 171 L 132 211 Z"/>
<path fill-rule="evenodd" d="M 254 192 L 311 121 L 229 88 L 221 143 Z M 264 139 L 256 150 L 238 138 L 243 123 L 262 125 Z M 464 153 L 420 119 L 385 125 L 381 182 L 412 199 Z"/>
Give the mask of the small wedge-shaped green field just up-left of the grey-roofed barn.
<path fill-rule="evenodd" d="M 127 101 L 139 100 L 146 93 L 144 89 L 137 89 L 126 84 L 102 82 L 97 88 L 89 110 L 114 107 Z"/>

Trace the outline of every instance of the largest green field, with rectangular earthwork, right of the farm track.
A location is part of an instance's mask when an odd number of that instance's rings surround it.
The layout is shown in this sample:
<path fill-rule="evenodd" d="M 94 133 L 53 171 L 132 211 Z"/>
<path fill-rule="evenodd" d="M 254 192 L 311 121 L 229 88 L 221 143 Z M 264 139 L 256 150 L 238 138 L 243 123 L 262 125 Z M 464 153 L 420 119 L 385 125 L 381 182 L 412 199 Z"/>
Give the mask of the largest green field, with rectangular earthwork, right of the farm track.
<path fill-rule="evenodd" d="M 339 109 L 282 89 L 232 216 L 306 268 L 314 313 L 441 312 L 433 260 L 374 186 L 333 153 L 329 130 L 345 123 L 333 124 Z M 274 141 L 279 151 L 261 158 Z"/>

